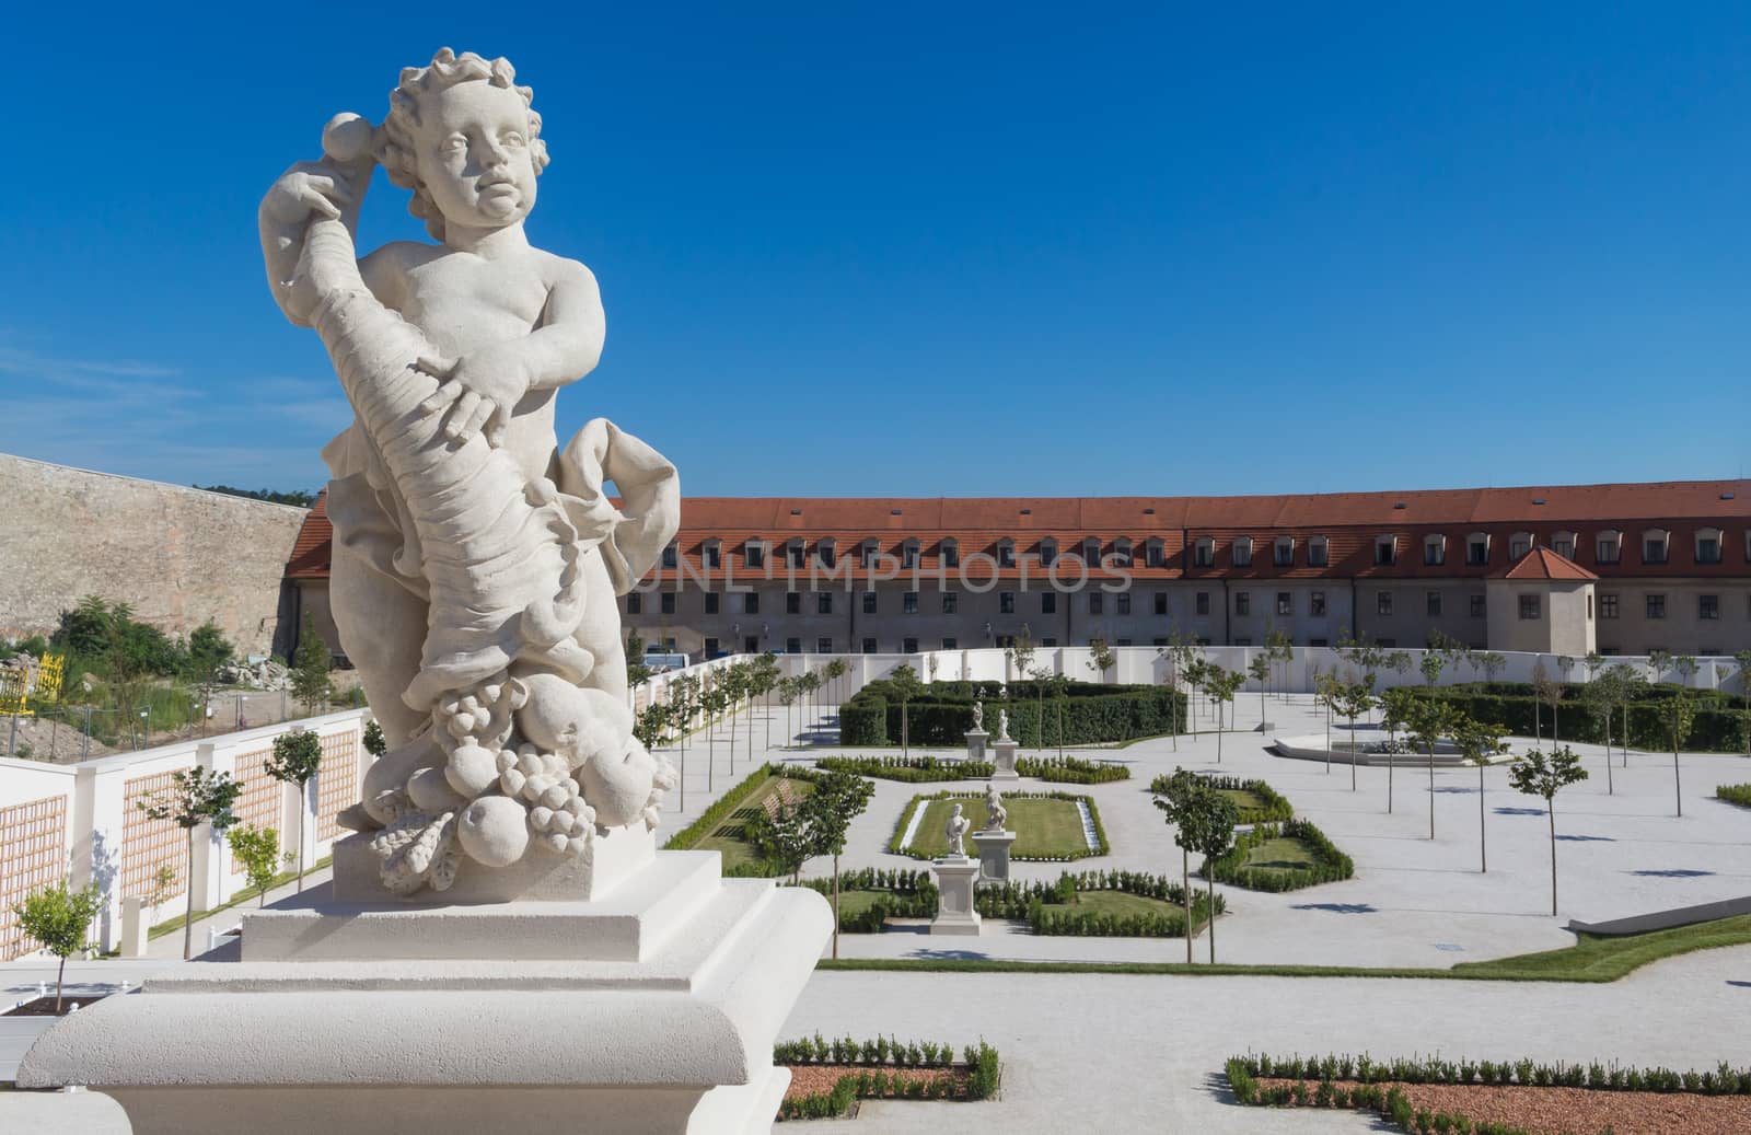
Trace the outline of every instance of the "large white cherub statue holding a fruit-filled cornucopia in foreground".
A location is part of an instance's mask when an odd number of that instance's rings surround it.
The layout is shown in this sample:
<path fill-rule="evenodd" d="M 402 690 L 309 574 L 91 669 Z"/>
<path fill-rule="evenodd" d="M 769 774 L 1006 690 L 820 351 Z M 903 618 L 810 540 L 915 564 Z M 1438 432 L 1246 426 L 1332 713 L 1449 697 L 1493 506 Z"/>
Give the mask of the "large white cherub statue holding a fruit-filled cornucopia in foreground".
<path fill-rule="evenodd" d="M 382 828 L 383 885 L 408 893 L 464 857 L 587 860 L 657 823 L 672 769 L 632 737 L 615 597 L 674 534 L 679 480 L 604 419 L 559 448 L 555 392 L 595 368 L 604 317 L 590 270 L 524 233 L 548 165 L 532 91 L 447 47 L 389 100 L 380 126 L 336 116 L 259 221 L 273 298 L 355 413 L 322 450 L 329 596 L 390 751 L 341 820 Z M 438 243 L 357 257 L 376 165 Z"/>

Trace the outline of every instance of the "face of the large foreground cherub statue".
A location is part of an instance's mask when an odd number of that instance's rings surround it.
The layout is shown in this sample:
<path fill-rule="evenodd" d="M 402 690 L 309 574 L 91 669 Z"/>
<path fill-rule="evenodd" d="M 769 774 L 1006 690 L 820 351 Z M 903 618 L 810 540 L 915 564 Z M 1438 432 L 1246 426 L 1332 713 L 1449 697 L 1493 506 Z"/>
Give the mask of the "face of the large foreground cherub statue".
<path fill-rule="evenodd" d="M 504 228 L 536 205 L 524 98 L 490 82 L 461 82 L 420 100 L 420 180 L 445 221 Z"/>

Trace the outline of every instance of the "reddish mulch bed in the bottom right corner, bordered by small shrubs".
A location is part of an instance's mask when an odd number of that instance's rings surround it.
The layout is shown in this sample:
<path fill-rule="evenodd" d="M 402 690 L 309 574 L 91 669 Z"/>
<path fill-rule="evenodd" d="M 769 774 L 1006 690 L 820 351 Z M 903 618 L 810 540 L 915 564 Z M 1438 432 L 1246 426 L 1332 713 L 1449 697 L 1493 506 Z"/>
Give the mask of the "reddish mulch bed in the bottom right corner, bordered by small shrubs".
<path fill-rule="evenodd" d="M 1261 1079 L 1261 1086 L 1294 1081 Z M 1334 1081 L 1355 1088 L 1354 1081 Z M 1317 1084 L 1308 1082 L 1308 1091 Z M 1523 1126 L 1534 1135 L 1600 1131 L 1614 1135 L 1742 1135 L 1751 1131 L 1751 1096 L 1697 1095 L 1688 1091 L 1595 1091 L 1588 1088 L 1518 1088 L 1495 1084 L 1378 1084 L 1397 1088 L 1411 1107 L 1466 1116 L 1473 1123 L 1494 1119 Z"/>

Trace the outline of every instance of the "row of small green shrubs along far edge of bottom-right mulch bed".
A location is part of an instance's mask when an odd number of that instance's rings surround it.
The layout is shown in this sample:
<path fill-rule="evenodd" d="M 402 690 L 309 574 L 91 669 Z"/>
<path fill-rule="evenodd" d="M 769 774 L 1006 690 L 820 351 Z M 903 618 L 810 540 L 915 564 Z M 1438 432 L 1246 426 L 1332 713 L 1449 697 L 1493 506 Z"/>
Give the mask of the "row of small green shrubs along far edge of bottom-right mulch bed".
<path fill-rule="evenodd" d="M 1262 1079 L 1357 1081 L 1362 1084 L 1490 1084 L 1518 1088 L 1588 1088 L 1593 1091 L 1690 1091 L 1698 1095 L 1751 1095 L 1751 1067 L 1733 1068 L 1725 1060 L 1711 1072 L 1635 1068 L 1616 1061 L 1586 1065 L 1539 1063 L 1532 1060 L 1373 1060 L 1361 1056 L 1245 1054 L 1229 1067 Z"/>

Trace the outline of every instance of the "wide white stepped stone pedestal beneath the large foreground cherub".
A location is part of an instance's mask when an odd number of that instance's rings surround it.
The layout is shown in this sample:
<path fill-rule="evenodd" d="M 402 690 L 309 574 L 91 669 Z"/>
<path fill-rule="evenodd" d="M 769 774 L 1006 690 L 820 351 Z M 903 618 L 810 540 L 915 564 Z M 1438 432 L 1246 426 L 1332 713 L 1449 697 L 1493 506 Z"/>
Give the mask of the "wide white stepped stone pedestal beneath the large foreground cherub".
<path fill-rule="evenodd" d="M 431 899 L 249 911 L 240 946 L 58 1021 L 18 1082 L 102 1089 L 137 1135 L 770 1130 L 818 893 L 662 851 L 594 900 Z"/>

